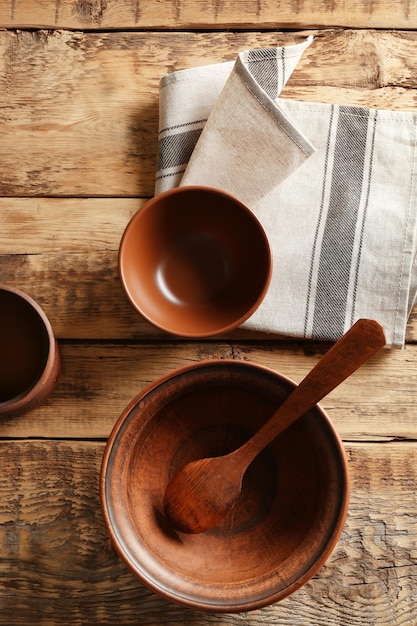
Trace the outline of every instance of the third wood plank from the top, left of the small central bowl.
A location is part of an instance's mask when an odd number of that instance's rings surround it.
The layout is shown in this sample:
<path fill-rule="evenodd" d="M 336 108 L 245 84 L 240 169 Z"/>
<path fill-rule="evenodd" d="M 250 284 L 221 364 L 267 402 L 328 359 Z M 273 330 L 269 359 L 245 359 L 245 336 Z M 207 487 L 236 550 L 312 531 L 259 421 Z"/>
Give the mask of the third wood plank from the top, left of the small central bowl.
<path fill-rule="evenodd" d="M 120 239 L 143 202 L 0 198 L 0 283 L 38 300 L 59 338 L 163 338 L 134 311 L 118 277 Z M 407 341 L 416 340 L 417 308 L 407 332 Z"/>

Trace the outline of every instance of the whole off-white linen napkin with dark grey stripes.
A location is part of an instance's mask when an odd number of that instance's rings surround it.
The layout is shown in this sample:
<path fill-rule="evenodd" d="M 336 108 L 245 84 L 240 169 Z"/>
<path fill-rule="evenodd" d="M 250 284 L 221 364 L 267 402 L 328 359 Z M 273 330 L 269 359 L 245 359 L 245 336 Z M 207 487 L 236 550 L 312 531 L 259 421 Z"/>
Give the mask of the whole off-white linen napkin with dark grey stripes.
<path fill-rule="evenodd" d="M 402 347 L 417 292 L 417 113 L 281 98 L 312 41 L 164 76 L 155 194 L 209 185 L 258 216 L 273 274 L 244 327 L 334 341 L 367 317 Z"/>

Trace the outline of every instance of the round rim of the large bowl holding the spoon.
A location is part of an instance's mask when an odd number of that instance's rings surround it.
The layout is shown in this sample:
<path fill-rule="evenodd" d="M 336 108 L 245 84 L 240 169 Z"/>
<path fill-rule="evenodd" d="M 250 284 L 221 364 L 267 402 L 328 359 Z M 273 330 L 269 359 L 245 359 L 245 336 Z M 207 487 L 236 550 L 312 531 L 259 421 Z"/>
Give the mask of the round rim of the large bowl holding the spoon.
<path fill-rule="evenodd" d="M 255 363 L 253 361 L 243 361 L 239 359 L 220 359 L 220 358 L 211 358 L 204 359 L 199 362 L 195 362 L 192 364 L 187 364 L 180 366 L 178 368 L 173 369 L 170 372 L 167 372 L 157 380 L 150 382 L 146 385 L 125 407 L 117 421 L 115 422 L 112 431 L 108 437 L 106 447 L 103 453 L 101 468 L 100 468 L 100 477 L 99 477 L 99 495 L 100 495 L 100 505 L 101 511 L 103 515 L 103 519 L 105 522 L 105 528 L 108 536 L 110 537 L 113 547 L 115 548 L 117 554 L 121 558 L 122 562 L 127 566 L 127 568 L 136 576 L 137 579 L 141 583 L 143 583 L 148 589 L 155 592 L 159 596 L 162 596 L 166 600 L 174 602 L 175 604 L 179 604 L 181 606 L 185 606 L 190 609 L 205 611 L 205 612 L 215 612 L 215 613 L 240 613 L 246 611 L 252 611 L 255 609 L 260 609 L 265 606 L 269 606 L 273 603 L 280 602 L 284 598 L 290 596 L 295 591 L 304 586 L 317 572 L 321 569 L 327 559 L 330 557 L 333 552 L 342 530 L 346 523 L 346 518 L 349 509 L 349 501 L 350 501 L 350 474 L 348 467 L 348 457 L 343 445 L 342 439 L 338 434 L 333 422 L 327 415 L 326 411 L 320 405 L 320 403 L 315 405 L 315 408 L 318 410 L 321 418 L 324 420 L 325 426 L 329 431 L 329 434 L 332 438 L 332 441 L 335 445 L 335 451 L 337 453 L 337 457 L 340 459 L 340 468 L 341 468 L 341 501 L 340 501 L 340 509 L 337 513 L 336 519 L 334 521 L 333 529 L 324 545 L 324 548 L 320 555 L 317 556 L 317 559 L 314 560 L 309 567 L 305 569 L 302 575 L 297 578 L 293 583 L 285 587 L 284 590 L 280 590 L 278 592 L 265 595 L 262 598 L 250 599 L 248 601 L 243 601 L 238 604 L 236 603 L 218 603 L 215 601 L 202 601 L 195 600 L 190 597 L 189 594 L 175 593 L 174 591 L 167 589 L 163 584 L 159 585 L 158 581 L 154 579 L 154 577 L 146 577 L 146 575 L 142 571 L 138 571 L 138 569 L 131 562 L 129 557 L 124 553 L 123 546 L 120 545 L 120 541 L 118 539 L 117 533 L 114 530 L 111 514 L 109 512 L 108 501 L 106 497 L 106 484 L 107 484 L 107 475 L 109 471 L 109 460 L 112 453 L 113 445 L 118 437 L 119 431 L 123 428 L 125 421 L 129 419 L 129 416 L 135 406 L 144 398 L 147 394 L 154 391 L 158 386 L 163 385 L 167 381 L 172 381 L 178 376 L 183 376 L 189 371 L 202 369 L 205 367 L 212 366 L 230 366 L 233 367 L 247 367 L 247 368 L 255 368 L 258 371 L 264 371 L 268 375 L 273 375 L 279 378 L 285 385 L 288 385 L 290 388 L 295 388 L 297 383 L 295 383 L 291 378 L 281 374 L 273 370 L 270 367 L 265 365 L 261 365 Z"/>

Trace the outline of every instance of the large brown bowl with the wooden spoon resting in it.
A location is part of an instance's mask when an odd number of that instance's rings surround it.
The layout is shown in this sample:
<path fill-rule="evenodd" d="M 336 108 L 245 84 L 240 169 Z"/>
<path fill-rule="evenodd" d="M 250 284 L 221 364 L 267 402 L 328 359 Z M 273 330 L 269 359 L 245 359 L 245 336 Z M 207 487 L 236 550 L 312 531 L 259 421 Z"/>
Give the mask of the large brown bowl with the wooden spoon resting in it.
<path fill-rule="evenodd" d="M 349 477 L 319 406 L 255 459 L 221 525 L 187 535 L 163 513 L 183 465 L 241 445 L 294 386 L 253 363 L 202 361 L 126 408 L 104 453 L 100 496 L 114 546 L 144 584 L 194 609 L 241 612 L 282 600 L 323 565 L 345 522 Z"/>

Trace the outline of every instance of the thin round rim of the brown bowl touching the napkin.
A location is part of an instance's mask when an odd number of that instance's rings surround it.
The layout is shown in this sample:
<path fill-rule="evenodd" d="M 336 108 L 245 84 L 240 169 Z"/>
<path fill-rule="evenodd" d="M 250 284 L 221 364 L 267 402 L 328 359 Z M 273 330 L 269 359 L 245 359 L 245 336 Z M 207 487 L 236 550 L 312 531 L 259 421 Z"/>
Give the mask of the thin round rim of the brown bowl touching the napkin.
<path fill-rule="evenodd" d="M 265 251 L 267 254 L 267 258 L 268 258 L 268 272 L 267 275 L 265 277 L 265 281 L 264 281 L 264 285 L 259 293 L 258 298 L 256 299 L 256 302 L 254 302 L 250 308 L 243 314 L 241 315 L 238 319 L 234 320 L 233 322 L 230 322 L 229 324 L 223 325 L 221 326 L 221 328 L 217 328 L 215 330 L 212 330 L 210 332 L 192 332 L 192 331 L 181 331 L 178 332 L 175 327 L 171 326 L 170 324 L 163 324 L 160 322 L 157 322 L 156 320 L 154 320 L 152 318 L 151 315 L 149 315 L 140 305 L 140 303 L 138 303 L 135 298 L 133 297 L 131 290 L 129 289 L 129 286 L 127 284 L 127 280 L 126 280 L 126 271 L 124 268 L 124 263 L 123 263 L 123 256 L 124 256 L 124 248 L 126 245 L 126 240 L 130 234 L 131 229 L 135 226 L 136 222 L 141 219 L 141 216 L 143 215 L 144 211 L 149 211 L 152 209 L 152 207 L 159 202 L 159 200 L 165 198 L 165 197 L 171 197 L 171 196 L 175 196 L 177 194 L 181 194 L 181 193 L 188 193 L 190 191 L 201 191 L 203 193 L 210 193 L 213 195 L 217 195 L 217 196 L 222 196 L 223 198 L 226 198 L 232 202 L 234 202 L 236 205 L 239 205 L 245 212 L 247 215 L 249 215 L 253 221 L 253 223 L 256 225 L 260 235 L 262 236 L 262 239 L 264 241 L 264 245 L 265 245 Z M 159 193 L 156 196 L 153 196 L 152 198 L 149 198 L 149 200 L 147 200 L 145 202 L 145 204 L 143 204 L 137 211 L 136 213 L 134 213 L 134 215 L 130 218 L 128 224 L 126 225 L 126 228 L 123 232 L 123 235 L 121 237 L 120 240 L 120 244 L 119 244 L 119 251 L 118 251 L 118 271 L 119 271 L 119 278 L 120 281 L 122 283 L 122 287 L 123 290 L 130 302 L 130 304 L 133 306 L 133 308 L 137 311 L 137 313 L 139 313 L 147 322 L 149 322 L 150 324 L 152 324 L 152 326 L 154 326 L 155 328 L 162 330 L 166 333 L 169 333 L 171 335 L 175 335 L 178 337 L 184 337 L 184 338 L 189 338 L 189 339 L 203 339 L 203 338 L 208 338 L 208 337 L 217 337 L 218 335 L 223 335 L 225 333 L 228 333 L 232 330 L 235 330 L 236 328 L 238 328 L 239 326 L 241 326 L 249 317 L 251 317 L 251 315 L 253 315 L 253 313 L 259 308 L 259 306 L 262 304 L 269 286 L 271 284 L 271 278 L 272 278 L 272 269 L 273 269 L 273 257 L 272 257 L 272 250 L 271 250 L 271 245 L 269 242 L 269 238 L 268 235 L 265 231 L 265 228 L 263 227 L 260 219 L 258 218 L 258 216 L 254 213 L 254 211 L 247 205 L 245 204 L 242 200 L 240 200 L 239 198 L 237 198 L 236 196 L 232 195 L 231 193 L 224 191 L 222 189 L 218 189 L 217 187 L 209 187 L 206 185 L 183 185 L 180 187 L 173 187 L 172 189 L 168 189 L 162 193 Z"/>

